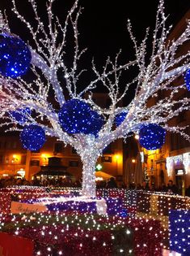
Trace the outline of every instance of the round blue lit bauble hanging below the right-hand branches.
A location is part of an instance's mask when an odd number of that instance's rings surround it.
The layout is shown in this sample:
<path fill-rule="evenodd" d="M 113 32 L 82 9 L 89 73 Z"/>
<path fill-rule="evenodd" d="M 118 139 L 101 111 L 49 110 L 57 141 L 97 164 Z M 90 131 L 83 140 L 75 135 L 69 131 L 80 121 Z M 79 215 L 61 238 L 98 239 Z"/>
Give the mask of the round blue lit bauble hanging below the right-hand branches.
<path fill-rule="evenodd" d="M 146 150 L 158 150 L 165 142 L 166 131 L 158 124 L 142 125 L 139 142 Z"/>

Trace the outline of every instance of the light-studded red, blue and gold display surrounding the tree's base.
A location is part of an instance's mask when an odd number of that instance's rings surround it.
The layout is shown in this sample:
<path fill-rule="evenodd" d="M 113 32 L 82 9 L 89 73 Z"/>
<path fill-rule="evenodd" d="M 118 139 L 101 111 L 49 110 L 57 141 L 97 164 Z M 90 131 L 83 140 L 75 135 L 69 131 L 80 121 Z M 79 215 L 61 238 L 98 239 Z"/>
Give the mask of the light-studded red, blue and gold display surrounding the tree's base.
<path fill-rule="evenodd" d="M 76 190 L 0 189 L 0 253 L 3 256 L 7 252 L 12 256 L 179 256 L 180 252 L 189 255 L 188 198 L 110 189 L 97 192 L 100 200 L 82 202 L 74 201 L 78 198 L 76 194 Z M 13 214 L 14 204 L 25 212 Z M 45 212 L 26 213 L 31 206 L 42 205 Z M 105 210 L 106 214 L 98 214 Z"/>

